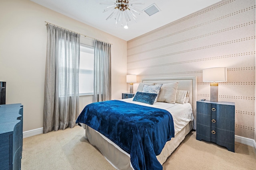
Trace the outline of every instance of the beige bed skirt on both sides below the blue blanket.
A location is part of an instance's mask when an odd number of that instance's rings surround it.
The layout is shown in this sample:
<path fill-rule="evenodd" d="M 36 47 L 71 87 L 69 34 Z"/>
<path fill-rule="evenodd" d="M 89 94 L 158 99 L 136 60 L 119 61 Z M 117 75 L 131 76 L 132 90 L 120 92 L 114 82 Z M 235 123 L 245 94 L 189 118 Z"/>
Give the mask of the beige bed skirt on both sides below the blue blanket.
<path fill-rule="evenodd" d="M 130 163 L 130 154 L 126 153 L 112 141 L 101 135 L 94 129 L 83 126 L 85 128 L 85 135 L 91 145 L 97 147 L 108 162 L 118 170 L 132 170 Z M 190 121 L 174 138 L 166 143 L 162 152 L 156 156 L 158 161 L 163 164 L 168 156 L 180 145 L 186 135 L 193 128 L 193 121 Z"/>

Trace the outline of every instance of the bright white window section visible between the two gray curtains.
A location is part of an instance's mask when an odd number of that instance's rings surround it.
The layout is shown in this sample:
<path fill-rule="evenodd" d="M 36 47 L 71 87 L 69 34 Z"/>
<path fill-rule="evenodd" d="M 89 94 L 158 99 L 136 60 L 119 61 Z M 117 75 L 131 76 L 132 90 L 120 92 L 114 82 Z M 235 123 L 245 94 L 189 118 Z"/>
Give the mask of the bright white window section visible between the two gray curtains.
<path fill-rule="evenodd" d="M 80 44 L 79 95 L 93 94 L 94 47 Z"/>

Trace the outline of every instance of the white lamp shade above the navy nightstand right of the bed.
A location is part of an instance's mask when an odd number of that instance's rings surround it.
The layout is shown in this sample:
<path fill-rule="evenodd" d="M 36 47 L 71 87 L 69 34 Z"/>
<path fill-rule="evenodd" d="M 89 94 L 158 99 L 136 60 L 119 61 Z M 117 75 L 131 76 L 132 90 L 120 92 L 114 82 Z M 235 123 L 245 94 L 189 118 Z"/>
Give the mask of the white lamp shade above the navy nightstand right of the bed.
<path fill-rule="evenodd" d="M 206 68 L 203 70 L 203 82 L 226 82 L 227 80 L 226 67 Z"/>

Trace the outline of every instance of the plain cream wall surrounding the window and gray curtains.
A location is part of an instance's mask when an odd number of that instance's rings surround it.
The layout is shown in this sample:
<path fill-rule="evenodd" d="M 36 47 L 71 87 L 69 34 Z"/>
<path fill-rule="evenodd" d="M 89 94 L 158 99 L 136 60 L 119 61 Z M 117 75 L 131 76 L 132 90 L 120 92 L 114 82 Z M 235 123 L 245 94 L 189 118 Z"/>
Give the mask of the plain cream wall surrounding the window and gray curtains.
<path fill-rule="evenodd" d="M 0 81 L 6 81 L 6 104 L 24 105 L 23 131 L 43 127 L 44 21 L 112 43 L 112 99 L 122 98 L 126 90 L 126 41 L 29 0 L 1 0 Z M 81 41 L 87 41 L 84 39 L 81 36 Z M 80 99 L 80 110 L 92 102 L 92 96 Z"/>

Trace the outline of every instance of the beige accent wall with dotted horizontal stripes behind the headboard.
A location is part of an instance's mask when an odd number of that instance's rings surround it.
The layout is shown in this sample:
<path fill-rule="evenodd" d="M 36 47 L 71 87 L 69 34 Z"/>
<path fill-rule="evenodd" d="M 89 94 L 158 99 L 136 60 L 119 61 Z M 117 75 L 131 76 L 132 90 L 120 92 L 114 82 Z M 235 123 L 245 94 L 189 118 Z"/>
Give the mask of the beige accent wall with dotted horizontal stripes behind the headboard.
<path fill-rule="evenodd" d="M 223 0 L 127 43 L 127 74 L 197 76 L 198 100 L 210 100 L 211 67 L 228 68 L 219 101 L 235 102 L 235 134 L 254 139 L 255 0 Z"/>

